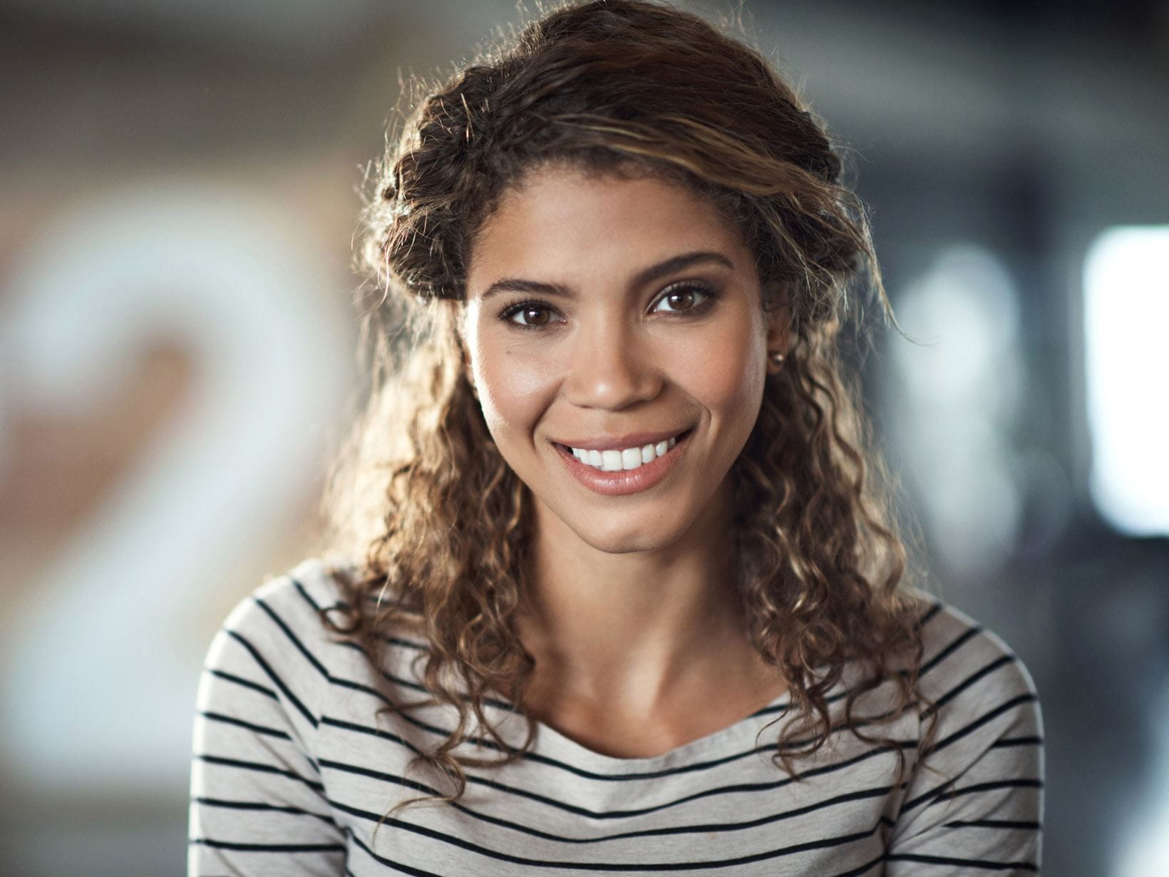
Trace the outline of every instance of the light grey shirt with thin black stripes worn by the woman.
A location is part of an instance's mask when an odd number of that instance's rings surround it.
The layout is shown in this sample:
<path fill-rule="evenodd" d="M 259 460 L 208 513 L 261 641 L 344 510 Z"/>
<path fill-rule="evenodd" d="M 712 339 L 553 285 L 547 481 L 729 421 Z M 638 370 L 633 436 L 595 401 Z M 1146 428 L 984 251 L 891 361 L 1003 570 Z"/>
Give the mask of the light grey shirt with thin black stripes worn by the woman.
<path fill-rule="evenodd" d="M 1001 640 L 940 603 L 922 626 L 921 685 L 938 711 L 928 747 L 919 745 L 927 723 L 911 711 L 871 728 L 895 743 L 836 731 L 793 778 L 769 760 L 786 697 L 655 758 L 602 755 L 538 725 L 525 757 L 469 768 L 455 803 L 387 816 L 420 790 L 448 788 L 410 761 L 445 738 L 454 711 L 378 716 L 371 663 L 320 621 L 338 600 L 326 567 L 305 561 L 241 603 L 215 637 L 195 719 L 191 875 L 1038 870 L 1035 688 Z M 386 668 L 413 699 L 419 654 L 394 640 Z M 833 710 L 855 683 L 832 693 Z M 518 743 L 524 723 L 505 707 L 489 714 Z"/>

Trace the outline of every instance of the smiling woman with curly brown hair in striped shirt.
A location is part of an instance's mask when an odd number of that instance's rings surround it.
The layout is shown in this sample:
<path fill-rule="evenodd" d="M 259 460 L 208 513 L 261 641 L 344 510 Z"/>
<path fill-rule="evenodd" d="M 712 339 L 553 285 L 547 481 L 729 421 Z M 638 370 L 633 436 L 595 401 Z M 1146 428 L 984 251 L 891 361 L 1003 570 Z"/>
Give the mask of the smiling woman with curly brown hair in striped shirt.
<path fill-rule="evenodd" d="M 213 644 L 191 872 L 1036 871 L 1033 688 L 907 587 L 837 344 L 863 209 L 759 54 L 570 5 L 383 170 L 362 552 Z"/>

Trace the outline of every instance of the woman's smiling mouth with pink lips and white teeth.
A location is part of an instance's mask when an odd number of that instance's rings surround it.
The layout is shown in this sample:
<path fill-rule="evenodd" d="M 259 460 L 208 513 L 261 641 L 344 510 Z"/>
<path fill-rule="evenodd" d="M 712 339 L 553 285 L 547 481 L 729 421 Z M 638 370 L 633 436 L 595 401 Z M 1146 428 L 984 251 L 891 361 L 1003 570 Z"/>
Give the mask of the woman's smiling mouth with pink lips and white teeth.
<path fill-rule="evenodd" d="M 584 486 L 597 493 L 620 496 L 648 490 L 665 478 L 685 451 L 689 435 L 689 429 L 669 436 L 638 433 L 614 441 L 553 442 L 553 446 Z"/>

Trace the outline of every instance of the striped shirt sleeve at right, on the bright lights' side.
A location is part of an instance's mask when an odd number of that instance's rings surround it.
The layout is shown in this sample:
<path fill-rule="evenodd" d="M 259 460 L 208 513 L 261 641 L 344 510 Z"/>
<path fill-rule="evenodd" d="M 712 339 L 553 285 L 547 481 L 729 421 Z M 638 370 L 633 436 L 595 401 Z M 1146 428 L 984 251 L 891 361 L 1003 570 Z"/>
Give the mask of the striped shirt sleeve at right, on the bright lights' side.
<path fill-rule="evenodd" d="M 927 667 L 938 725 L 909 778 L 886 875 L 1037 873 L 1043 727 L 1026 668 L 977 627 Z"/>

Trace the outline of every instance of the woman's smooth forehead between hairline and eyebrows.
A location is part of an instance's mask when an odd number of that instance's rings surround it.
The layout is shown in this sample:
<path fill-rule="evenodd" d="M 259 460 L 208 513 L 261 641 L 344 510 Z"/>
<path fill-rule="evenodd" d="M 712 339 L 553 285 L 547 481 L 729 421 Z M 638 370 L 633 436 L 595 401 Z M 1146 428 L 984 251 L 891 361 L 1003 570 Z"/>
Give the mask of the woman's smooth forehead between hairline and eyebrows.
<path fill-rule="evenodd" d="M 635 272 L 679 253 L 753 265 L 742 235 L 706 198 L 650 175 L 544 167 L 504 192 L 471 247 L 469 295 L 499 276 Z"/>

